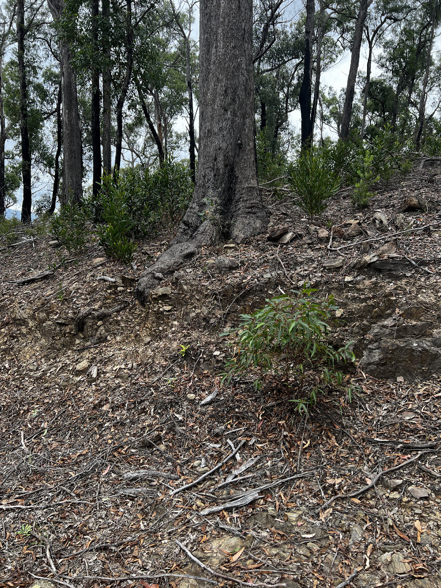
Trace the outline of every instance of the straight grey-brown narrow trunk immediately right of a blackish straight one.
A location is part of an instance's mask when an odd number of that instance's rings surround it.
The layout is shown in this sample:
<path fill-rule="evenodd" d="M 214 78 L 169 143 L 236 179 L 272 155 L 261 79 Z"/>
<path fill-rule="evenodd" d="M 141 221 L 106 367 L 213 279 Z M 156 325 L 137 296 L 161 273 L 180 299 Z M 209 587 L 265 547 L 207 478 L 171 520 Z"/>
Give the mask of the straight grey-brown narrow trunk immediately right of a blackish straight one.
<path fill-rule="evenodd" d="M 102 2 L 102 16 L 105 22 L 105 32 L 110 35 L 110 8 L 109 0 Z M 104 39 L 105 65 L 102 72 L 102 167 L 103 173 L 112 171 L 112 95 L 111 95 L 111 70 L 110 70 L 110 44 L 108 35 Z"/>

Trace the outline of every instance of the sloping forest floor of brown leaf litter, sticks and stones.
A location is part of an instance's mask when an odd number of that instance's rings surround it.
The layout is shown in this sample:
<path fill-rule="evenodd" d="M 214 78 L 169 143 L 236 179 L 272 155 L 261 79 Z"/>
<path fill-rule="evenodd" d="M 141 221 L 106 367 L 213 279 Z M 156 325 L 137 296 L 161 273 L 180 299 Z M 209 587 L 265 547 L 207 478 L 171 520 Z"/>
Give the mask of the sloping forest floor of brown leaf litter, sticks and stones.
<path fill-rule="evenodd" d="M 129 268 L 93 239 L 2 247 L 0 586 L 441 587 L 440 188 L 427 164 L 313 223 L 268 192 L 266 235 L 202 249 L 146 308 L 168 229 Z M 352 403 L 219 389 L 219 333 L 305 282 L 355 341 Z"/>

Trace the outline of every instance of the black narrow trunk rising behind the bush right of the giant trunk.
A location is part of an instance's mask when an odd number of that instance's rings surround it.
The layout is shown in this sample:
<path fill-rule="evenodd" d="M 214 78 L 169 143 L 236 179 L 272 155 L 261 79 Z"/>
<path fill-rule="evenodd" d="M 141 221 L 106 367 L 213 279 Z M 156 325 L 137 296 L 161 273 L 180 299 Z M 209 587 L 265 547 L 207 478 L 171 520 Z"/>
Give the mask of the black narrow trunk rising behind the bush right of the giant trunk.
<path fill-rule="evenodd" d="M 311 129 L 311 72 L 312 44 L 314 38 L 315 0 L 306 0 L 305 58 L 303 60 L 303 79 L 300 86 L 299 105 L 302 116 L 302 149 L 308 149 L 312 142 Z"/>

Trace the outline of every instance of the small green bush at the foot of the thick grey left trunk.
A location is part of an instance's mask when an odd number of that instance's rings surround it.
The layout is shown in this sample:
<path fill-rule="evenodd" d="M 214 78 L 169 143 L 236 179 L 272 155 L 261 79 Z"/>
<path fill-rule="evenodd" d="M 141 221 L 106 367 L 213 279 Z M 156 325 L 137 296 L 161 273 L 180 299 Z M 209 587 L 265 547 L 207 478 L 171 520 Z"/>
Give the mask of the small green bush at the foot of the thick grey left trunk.
<path fill-rule="evenodd" d="M 69 203 L 52 215 L 49 220 L 49 231 L 56 240 L 66 246 L 69 253 L 79 253 L 86 246 L 86 222 L 85 209 L 78 204 Z"/>

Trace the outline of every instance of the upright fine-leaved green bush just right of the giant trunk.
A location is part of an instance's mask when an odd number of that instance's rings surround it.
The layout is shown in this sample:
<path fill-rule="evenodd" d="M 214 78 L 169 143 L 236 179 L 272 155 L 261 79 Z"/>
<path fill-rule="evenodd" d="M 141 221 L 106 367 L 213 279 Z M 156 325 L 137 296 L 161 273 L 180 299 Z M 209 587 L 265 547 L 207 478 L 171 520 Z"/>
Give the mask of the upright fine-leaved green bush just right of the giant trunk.
<path fill-rule="evenodd" d="M 329 163 L 311 149 L 302 153 L 288 168 L 289 183 L 296 195 L 296 204 L 312 218 L 326 210 L 326 201 L 335 196 L 340 187 Z"/>

